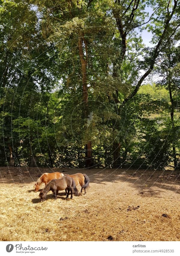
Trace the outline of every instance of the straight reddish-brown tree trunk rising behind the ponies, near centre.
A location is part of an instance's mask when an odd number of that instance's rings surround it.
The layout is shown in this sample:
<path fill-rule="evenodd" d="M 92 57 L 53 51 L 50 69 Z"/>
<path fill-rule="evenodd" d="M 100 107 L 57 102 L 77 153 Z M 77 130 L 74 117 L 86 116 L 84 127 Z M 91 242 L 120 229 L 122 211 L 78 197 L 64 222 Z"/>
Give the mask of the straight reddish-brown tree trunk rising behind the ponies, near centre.
<path fill-rule="evenodd" d="M 85 53 L 86 57 L 83 52 L 83 43 L 85 44 Z M 82 68 L 82 101 L 83 101 L 83 109 L 82 109 L 82 117 L 88 119 L 88 86 L 87 86 L 87 61 L 88 61 L 88 49 L 87 49 L 87 42 L 84 38 L 84 35 L 80 33 L 79 41 L 78 41 L 78 48 L 79 48 L 79 57 L 81 62 Z M 85 145 L 85 165 L 86 168 L 90 168 L 93 166 L 93 158 L 92 158 L 92 146 L 91 141 L 87 141 Z"/>

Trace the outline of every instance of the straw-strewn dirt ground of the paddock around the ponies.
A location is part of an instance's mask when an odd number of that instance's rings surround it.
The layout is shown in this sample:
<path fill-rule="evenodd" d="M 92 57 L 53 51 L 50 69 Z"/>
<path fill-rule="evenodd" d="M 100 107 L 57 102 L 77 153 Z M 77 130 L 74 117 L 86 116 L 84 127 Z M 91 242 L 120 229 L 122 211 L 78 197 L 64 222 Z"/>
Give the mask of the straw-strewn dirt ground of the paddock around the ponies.
<path fill-rule="evenodd" d="M 87 194 L 40 202 L 44 172 L 86 173 Z M 1 241 L 180 241 L 180 173 L 0 167 Z M 40 188 L 44 188 L 44 183 Z M 80 187 L 78 187 L 80 188 Z M 79 189 L 80 190 L 80 189 Z"/>

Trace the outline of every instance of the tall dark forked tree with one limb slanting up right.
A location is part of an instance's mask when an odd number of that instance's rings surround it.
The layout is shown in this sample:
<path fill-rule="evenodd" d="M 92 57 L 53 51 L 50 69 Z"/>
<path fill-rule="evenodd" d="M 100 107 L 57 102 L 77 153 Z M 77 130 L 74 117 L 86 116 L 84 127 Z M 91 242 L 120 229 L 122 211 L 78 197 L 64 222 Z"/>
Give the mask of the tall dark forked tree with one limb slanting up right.
<path fill-rule="evenodd" d="M 120 55 L 120 69 L 122 67 L 122 62 L 125 61 L 125 53 L 127 50 L 127 35 L 131 35 L 131 33 L 136 28 L 140 28 L 145 24 L 148 24 L 149 30 L 154 35 L 154 42 L 157 43 L 154 49 L 150 50 L 148 52 L 149 57 L 147 58 L 145 56 L 144 61 L 141 62 L 142 69 L 145 70 L 143 75 L 140 75 L 139 80 L 133 84 L 134 86 L 130 90 L 130 94 L 126 95 L 123 101 L 123 104 L 127 104 L 129 100 L 131 100 L 139 90 L 141 84 L 146 79 L 146 77 L 152 72 L 155 61 L 158 58 L 163 41 L 167 37 L 171 37 L 170 33 L 170 27 L 174 27 L 173 21 L 177 19 L 179 14 L 176 12 L 177 9 L 177 1 L 174 0 L 173 4 L 172 1 L 169 1 L 168 3 L 163 3 L 156 1 L 156 5 L 154 1 L 149 2 L 150 6 L 153 8 L 153 13 L 149 18 L 149 21 L 145 22 L 146 12 L 145 9 L 145 2 L 140 0 L 133 0 L 129 2 L 129 4 L 126 1 L 115 1 L 115 8 L 113 9 L 113 14 L 116 19 L 116 25 L 119 30 L 119 36 L 121 37 L 121 55 Z M 153 6 L 156 7 L 153 7 Z M 163 8 L 163 13 L 161 12 L 161 9 Z M 158 21 L 156 19 L 156 16 L 158 15 Z M 155 25 L 150 25 L 151 22 L 155 21 Z M 161 22 L 161 24 L 160 24 Z M 177 29 L 177 27 L 175 28 Z M 137 76 L 138 76 L 138 70 L 137 70 Z M 122 81 L 122 72 L 120 75 L 120 81 Z M 116 92 L 117 95 L 117 92 Z M 120 107 L 122 108 L 122 106 Z M 119 109 L 120 109 L 119 108 Z M 114 162 L 115 167 L 118 167 L 119 163 L 116 164 L 116 161 L 119 158 L 119 144 L 114 144 Z"/>

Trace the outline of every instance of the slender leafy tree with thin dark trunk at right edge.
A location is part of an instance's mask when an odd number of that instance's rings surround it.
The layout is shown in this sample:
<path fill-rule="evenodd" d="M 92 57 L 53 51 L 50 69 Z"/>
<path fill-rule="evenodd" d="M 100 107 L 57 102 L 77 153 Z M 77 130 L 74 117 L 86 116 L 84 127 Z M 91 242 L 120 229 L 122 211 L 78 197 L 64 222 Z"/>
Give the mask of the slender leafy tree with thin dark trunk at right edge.
<path fill-rule="evenodd" d="M 175 32 L 175 31 L 174 31 Z M 176 34 L 175 34 L 176 35 Z M 178 145 L 179 134 L 179 46 L 176 47 L 176 39 L 173 36 L 168 38 L 164 43 L 164 49 L 158 60 L 157 72 L 161 75 L 162 80 L 159 81 L 158 86 L 164 86 L 169 91 L 170 96 L 170 134 L 171 144 L 173 148 L 173 162 L 174 168 L 178 167 L 176 148 Z"/>

